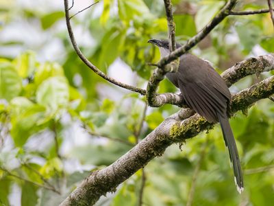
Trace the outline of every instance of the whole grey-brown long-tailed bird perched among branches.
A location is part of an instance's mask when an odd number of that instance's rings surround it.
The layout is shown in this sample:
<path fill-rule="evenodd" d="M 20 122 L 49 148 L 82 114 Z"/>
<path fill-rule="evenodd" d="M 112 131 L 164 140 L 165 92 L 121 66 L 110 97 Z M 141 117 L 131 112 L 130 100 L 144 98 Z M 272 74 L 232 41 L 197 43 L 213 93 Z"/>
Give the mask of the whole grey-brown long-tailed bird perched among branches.
<path fill-rule="evenodd" d="M 169 41 L 151 39 L 148 41 L 160 49 L 160 56 L 170 54 Z M 176 48 L 182 47 L 176 43 Z M 232 101 L 231 93 L 225 81 L 209 62 L 190 53 L 179 58 L 179 67 L 175 73 L 166 73 L 166 77 L 179 88 L 184 102 L 208 122 L 220 122 L 225 146 L 229 151 L 234 180 L 239 193 L 244 190 L 242 169 L 236 141 L 229 124 L 229 108 Z"/>

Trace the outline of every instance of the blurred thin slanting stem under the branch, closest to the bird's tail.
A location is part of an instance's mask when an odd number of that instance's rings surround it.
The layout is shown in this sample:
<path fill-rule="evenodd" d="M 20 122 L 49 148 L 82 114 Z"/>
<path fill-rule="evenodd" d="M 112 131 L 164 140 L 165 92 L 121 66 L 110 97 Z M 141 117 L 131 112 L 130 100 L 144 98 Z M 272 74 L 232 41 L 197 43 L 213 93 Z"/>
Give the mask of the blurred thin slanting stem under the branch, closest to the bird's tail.
<path fill-rule="evenodd" d="M 192 201 L 194 198 L 194 194 L 195 194 L 195 189 L 196 189 L 196 183 L 197 183 L 197 177 L 198 174 L 200 172 L 200 168 L 201 168 L 201 163 L 203 163 L 203 159 L 206 156 L 206 148 L 208 147 L 208 135 L 206 136 L 206 141 L 203 143 L 203 147 L 201 148 L 201 154 L 200 154 L 200 158 L 199 161 L 195 167 L 193 176 L 192 176 L 192 181 L 191 181 L 191 187 L 190 187 L 190 191 L 188 194 L 188 201 L 186 203 L 186 206 L 191 206 L 192 205 Z"/>

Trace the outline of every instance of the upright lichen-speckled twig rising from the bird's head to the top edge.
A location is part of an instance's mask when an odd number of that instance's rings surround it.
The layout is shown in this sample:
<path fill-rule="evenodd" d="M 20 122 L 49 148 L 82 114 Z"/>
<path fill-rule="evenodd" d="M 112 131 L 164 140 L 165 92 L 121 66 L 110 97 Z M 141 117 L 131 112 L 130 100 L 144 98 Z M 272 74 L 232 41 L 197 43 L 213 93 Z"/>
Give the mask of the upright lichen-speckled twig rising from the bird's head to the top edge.
<path fill-rule="evenodd" d="M 169 50 L 173 52 L 176 49 L 175 43 L 175 23 L 173 21 L 173 11 L 171 0 L 164 0 L 164 7 L 166 8 L 166 20 L 169 27 Z"/>

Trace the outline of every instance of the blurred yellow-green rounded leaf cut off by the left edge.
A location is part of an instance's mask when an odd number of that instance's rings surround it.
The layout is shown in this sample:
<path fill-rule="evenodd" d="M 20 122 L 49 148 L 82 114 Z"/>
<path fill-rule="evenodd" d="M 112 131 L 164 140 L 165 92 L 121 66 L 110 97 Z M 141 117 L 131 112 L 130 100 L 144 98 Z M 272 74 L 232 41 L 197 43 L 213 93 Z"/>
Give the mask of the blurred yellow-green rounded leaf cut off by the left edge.
<path fill-rule="evenodd" d="M 7 62 L 0 63 L 0 99 L 11 100 L 21 92 L 21 77 L 14 66 Z"/>

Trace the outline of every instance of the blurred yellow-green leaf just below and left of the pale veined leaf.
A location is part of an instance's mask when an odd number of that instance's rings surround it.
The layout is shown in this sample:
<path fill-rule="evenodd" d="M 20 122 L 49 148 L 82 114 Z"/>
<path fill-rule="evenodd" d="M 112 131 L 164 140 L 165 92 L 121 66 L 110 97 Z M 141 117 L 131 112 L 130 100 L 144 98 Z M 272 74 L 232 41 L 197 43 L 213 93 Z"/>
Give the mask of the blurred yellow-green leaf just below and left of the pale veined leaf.
<path fill-rule="evenodd" d="M 24 112 L 23 110 L 23 107 L 16 109 L 11 119 L 12 129 L 10 133 L 16 146 L 23 146 L 30 135 L 45 128 L 47 123 L 46 108 L 44 106 L 34 104 L 27 106 Z M 18 114 L 19 111 L 23 113 Z"/>

